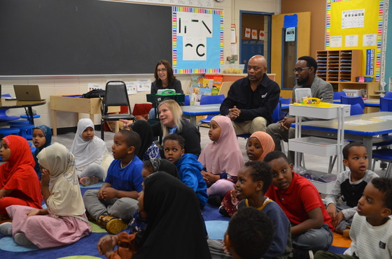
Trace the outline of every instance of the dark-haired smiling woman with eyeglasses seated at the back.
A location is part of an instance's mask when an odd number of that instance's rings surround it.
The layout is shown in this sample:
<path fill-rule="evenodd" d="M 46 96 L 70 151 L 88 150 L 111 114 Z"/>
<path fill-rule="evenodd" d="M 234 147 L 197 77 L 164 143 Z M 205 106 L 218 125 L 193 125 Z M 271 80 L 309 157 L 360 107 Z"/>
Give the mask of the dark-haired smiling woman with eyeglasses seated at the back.
<path fill-rule="evenodd" d="M 183 94 L 181 81 L 173 75 L 173 68 L 167 60 L 160 60 L 155 66 L 155 81 L 151 83 L 151 94 L 158 94 L 160 89 L 174 89 L 177 94 Z"/>

